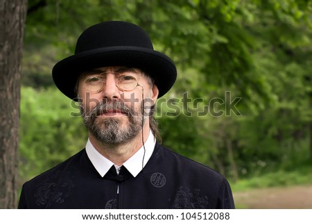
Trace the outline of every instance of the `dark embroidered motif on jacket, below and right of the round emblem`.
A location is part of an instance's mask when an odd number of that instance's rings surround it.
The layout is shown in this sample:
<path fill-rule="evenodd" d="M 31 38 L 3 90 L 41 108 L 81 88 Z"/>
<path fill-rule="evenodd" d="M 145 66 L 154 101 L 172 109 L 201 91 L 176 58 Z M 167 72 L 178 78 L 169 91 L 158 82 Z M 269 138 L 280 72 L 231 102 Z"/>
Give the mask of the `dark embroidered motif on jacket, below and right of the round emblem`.
<path fill-rule="evenodd" d="M 173 208 L 207 208 L 208 204 L 207 196 L 200 197 L 200 189 L 185 186 L 180 186 L 173 199 Z"/>

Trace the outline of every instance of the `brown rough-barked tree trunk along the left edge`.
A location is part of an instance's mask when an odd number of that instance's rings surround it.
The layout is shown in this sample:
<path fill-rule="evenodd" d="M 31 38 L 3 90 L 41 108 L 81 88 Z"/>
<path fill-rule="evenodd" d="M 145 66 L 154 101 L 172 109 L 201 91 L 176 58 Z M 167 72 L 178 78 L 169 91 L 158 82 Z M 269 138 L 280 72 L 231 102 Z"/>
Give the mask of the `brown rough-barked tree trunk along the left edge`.
<path fill-rule="evenodd" d="M 0 208 L 17 207 L 19 82 L 26 0 L 0 1 Z"/>

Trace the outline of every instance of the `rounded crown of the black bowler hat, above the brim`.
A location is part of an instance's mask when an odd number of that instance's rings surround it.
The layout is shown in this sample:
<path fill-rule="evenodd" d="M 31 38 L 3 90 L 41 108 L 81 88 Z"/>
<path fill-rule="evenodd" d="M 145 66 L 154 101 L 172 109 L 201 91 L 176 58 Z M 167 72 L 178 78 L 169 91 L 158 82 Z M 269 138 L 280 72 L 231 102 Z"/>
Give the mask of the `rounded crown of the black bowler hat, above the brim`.
<path fill-rule="evenodd" d="M 107 47 L 140 47 L 153 50 L 148 34 L 128 22 L 102 22 L 87 28 L 78 38 L 76 53 Z"/>

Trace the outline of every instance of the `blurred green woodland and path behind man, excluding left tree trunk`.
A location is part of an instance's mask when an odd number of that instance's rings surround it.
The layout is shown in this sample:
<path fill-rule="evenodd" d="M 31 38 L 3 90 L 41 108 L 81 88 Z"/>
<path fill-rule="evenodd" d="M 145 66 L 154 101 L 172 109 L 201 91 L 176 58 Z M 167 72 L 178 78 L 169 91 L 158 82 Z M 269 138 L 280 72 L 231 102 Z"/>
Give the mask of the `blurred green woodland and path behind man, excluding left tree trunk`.
<path fill-rule="evenodd" d="M 138 24 L 177 65 L 162 144 L 223 174 L 237 208 L 312 208 L 312 3 L 295 0 L 28 0 L 19 190 L 85 147 L 51 69 L 107 20 Z"/>

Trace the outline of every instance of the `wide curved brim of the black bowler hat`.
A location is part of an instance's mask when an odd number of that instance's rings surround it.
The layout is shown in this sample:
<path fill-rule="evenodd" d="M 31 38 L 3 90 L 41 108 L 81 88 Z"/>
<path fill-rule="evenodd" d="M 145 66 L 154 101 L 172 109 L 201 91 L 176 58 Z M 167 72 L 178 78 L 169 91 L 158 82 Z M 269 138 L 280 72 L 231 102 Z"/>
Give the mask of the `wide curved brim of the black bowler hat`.
<path fill-rule="evenodd" d="M 163 53 L 141 47 L 105 47 L 60 60 L 52 69 L 53 81 L 63 94 L 76 100 L 76 83 L 82 72 L 112 66 L 135 67 L 147 72 L 155 80 L 158 97 L 166 94 L 177 78 L 173 61 Z"/>

